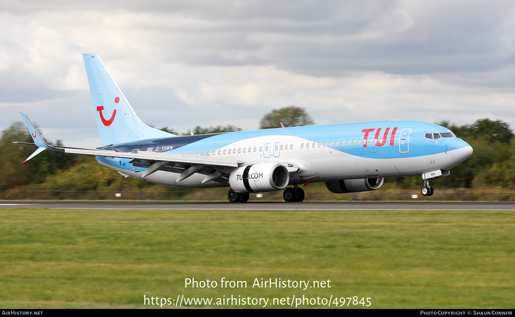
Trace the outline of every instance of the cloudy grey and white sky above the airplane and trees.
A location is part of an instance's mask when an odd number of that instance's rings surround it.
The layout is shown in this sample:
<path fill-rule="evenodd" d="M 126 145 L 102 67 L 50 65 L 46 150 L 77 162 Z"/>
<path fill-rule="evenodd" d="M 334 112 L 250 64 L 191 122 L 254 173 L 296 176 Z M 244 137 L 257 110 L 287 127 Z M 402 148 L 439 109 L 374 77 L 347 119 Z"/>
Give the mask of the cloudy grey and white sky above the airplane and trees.
<path fill-rule="evenodd" d="M 0 2 L 0 128 L 99 146 L 82 53 L 140 118 L 257 129 L 271 109 L 317 124 L 384 119 L 515 127 L 513 1 Z"/>

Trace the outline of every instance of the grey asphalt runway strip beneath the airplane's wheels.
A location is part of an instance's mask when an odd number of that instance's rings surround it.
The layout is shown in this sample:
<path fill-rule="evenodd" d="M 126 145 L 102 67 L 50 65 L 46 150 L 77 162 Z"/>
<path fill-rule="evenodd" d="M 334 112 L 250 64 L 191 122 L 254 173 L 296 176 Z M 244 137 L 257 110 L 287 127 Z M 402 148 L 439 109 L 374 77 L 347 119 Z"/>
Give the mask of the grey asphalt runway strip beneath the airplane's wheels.
<path fill-rule="evenodd" d="M 189 210 L 515 210 L 515 202 L 0 201 L 0 208 Z"/>

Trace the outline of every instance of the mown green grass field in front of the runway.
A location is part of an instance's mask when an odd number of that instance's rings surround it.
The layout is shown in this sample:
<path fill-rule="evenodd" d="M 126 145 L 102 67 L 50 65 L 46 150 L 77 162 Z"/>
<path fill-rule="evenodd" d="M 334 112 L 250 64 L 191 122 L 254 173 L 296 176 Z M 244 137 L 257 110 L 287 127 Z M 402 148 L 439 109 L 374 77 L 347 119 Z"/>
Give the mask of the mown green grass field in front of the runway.
<path fill-rule="evenodd" d="M 148 308 L 144 294 L 515 306 L 515 212 L 0 209 L 0 217 L 0 308 Z M 218 287 L 184 288 L 192 277 Z M 222 277 L 247 288 L 221 289 Z M 276 277 L 329 279 L 331 288 L 252 288 Z"/>

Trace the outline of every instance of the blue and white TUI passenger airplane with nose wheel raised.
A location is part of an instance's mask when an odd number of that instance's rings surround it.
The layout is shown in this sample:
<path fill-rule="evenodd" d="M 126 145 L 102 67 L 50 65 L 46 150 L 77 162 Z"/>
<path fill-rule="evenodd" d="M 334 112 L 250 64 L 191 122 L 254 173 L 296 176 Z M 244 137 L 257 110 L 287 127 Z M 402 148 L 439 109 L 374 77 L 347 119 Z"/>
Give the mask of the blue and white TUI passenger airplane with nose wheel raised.
<path fill-rule="evenodd" d="M 299 185 L 325 182 L 334 193 L 379 189 L 386 177 L 421 175 L 429 181 L 472 154 L 445 127 L 422 121 L 385 120 L 178 136 L 149 127 L 95 52 L 83 54 L 101 146 L 49 145 L 23 114 L 38 149 L 95 155 L 125 178 L 185 188 L 230 187 L 230 202 L 250 193 L 283 191 L 286 202 L 304 200 Z M 21 143 L 21 142 L 17 142 Z M 289 187 L 292 186 L 292 187 Z"/>

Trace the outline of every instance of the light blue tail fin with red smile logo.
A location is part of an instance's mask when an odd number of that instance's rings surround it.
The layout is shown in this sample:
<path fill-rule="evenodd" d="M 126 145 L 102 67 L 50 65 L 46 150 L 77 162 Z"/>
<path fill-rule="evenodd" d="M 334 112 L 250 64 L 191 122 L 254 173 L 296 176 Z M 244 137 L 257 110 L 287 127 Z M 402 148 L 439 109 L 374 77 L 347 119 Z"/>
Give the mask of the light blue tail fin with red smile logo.
<path fill-rule="evenodd" d="M 176 136 L 141 121 L 95 52 L 84 53 L 82 57 L 102 146 Z"/>

